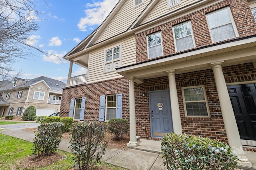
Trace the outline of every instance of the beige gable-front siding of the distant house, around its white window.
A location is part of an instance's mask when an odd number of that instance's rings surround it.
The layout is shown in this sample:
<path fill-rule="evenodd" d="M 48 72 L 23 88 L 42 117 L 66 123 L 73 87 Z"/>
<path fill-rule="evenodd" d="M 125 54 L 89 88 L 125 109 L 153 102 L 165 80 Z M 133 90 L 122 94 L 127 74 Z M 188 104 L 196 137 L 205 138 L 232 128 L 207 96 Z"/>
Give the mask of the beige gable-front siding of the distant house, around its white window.
<path fill-rule="evenodd" d="M 40 86 L 42 86 L 43 89 L 38 89 L 38 87 L 40 87 Z M 35 91 L 44 92 L 44 100 L 33 99 Z M 28 102 L 47 103 L 48 94 L 49 94 L 48 87 L 46 87 L 46 85 L 43 82 L 34 84 L 33 87 L 30 88 L 30 93 L 29 93 L 29 96 L 28 96 Z"/>

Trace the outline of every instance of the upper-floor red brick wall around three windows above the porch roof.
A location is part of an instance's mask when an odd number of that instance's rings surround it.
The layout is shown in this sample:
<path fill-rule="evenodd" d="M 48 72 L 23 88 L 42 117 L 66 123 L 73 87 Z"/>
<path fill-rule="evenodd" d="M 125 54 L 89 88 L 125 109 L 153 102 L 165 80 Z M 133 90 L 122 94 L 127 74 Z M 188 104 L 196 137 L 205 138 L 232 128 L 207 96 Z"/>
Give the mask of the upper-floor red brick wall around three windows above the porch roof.
<path fill-rule="evenodd" d="M 194 49 L 215 44 L 215 43 L 212 43 L 205 14 L 212 12 L 214 10 L 224 8 L 226 6 L 230 6 L 230 9 L 238 30 L 238 34 L 239 34 L 238 38 L 255 35 L 256 23 L 252 16 L 252 12 L 250 10 L 250 7 L 248 6 L 247 1 L 226 0 L 214 6 L 210 6 L 206 9 L 194 12 L 193 14 L 190 14 L 188 16 L 178 18 L 176 20 L 164 23 L 157 27 L 153 27 L 149 30 L 136 34 L 136 62 L 140 63 L 140 62 L 149 60 L 148 53 L 147 53 L 146 36 L 158 31 L 161 31 L 161 34 L 162 34 L 163 56 L 180 53 L 180 52 L 175 52 L 172 26 L 188 20 L 190 20 L 192 23 L 192 29 L 193 29 L 194 39 L 196 43 L 196 47 Z M 225 41 L 229 41 L 229 40 L 225 40 Z M 191 50 L 191 49 L 188 49 L 188 50 Z"/>

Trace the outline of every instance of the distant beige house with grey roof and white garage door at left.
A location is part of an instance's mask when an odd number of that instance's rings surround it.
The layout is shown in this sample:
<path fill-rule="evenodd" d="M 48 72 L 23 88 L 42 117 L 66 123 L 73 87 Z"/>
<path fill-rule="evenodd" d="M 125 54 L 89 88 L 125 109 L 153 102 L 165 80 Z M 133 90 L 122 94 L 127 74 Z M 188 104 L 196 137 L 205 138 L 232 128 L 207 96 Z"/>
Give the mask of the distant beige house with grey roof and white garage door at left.
<path fill-rule="evenodd" d="M 14 82 L 2 81 L 0 86 L 1 116 L 21 116 L 28 106 L 36 107 L 36 115 L 50 115 L 60 111 L 64 82 L 44 76 L 25 80 L 15 78 Z"/>

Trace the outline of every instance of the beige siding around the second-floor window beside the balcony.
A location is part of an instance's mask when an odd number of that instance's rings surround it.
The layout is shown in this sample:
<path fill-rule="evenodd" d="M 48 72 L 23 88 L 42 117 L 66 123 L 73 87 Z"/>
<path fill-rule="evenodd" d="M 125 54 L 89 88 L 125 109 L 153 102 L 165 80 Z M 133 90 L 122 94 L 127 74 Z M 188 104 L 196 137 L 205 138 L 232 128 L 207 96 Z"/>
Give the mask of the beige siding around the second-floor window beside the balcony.
<path fill-rule="evenodd" d="M 105 50 L 118 45 L 121 45 L 122 50 L 122 66 L 136 63 L 135 37 L 130 37 L 129 39 L 122 40 L 115 44 L 109 45 L 106 48 L 98 49 L 97 51 L 92 51 L 90 53 L 90 60 L 88 65 L 87 83 L 122 77 L 120 76 L 120 74 L 117 74 L 116 71 L 104 72 Z"/>

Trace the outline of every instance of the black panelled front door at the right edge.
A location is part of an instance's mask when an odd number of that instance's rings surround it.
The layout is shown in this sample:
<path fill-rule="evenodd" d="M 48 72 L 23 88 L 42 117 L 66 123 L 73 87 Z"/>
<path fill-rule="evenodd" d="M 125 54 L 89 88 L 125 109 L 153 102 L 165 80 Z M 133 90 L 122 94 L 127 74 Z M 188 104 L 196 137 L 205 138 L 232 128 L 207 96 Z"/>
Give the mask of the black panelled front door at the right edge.
<path fill-rule="evenodd" d="M 236 117 L 240 138 L 256 141 L 255 84 L 230 85 L 228 93 Z"/>

